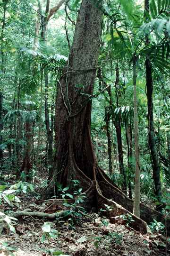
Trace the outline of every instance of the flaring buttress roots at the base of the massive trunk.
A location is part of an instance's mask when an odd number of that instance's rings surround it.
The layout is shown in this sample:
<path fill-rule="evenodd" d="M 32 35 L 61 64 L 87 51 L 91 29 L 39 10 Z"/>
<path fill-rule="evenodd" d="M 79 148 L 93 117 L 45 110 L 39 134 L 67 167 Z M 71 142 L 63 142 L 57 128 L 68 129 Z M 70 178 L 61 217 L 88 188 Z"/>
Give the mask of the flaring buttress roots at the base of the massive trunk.
<path fill-rule="evenodd" d="M 90 136 L 87 136 L 87 138 L 88 137 L 89 143 L 87 144 L 90 145 Z M 92 152 L 92 149 L 90 151 Z M 70 146 L 68 163 L 60 175 L 59 180 L 61 183 L 64 181 L 65 183 L 63 185 L 70 186 L 70 188 L 72 185 L 71 180 L 79 180 L 79 185 L 81 188 L 83 188 L 83 192 L 86 193 L 87 197 L 87 200 L 84 202 L 84 207 L 86 210 L 90 211 L 94 207 L 96 210 L 99 210 L 100 208 L 105 208 L 105 204 L 109 205 L 112 210 L 106 212 L 106 215 L 112 223 L 119 221 L 119 219 L 115 219 L 116 216 L 130 214 L 135 221 L 129 223 L 129 226 L 143 234 L 147 233 L 147 224 L 150 224 L 153 219 L 165 223 L 164 216 L 160 212 L 152 210 L 142 203 L 140 204 L 141 219 L 137 218 L 133 214 L 133 200 L 129 199 L 118 186 L 112 183 L 104 171 L 97 166 L 94 156 L 91 158 L 91 165 L 89 164 L 89 166 L 91 166 L 90 174 L 89 170 L 87 172 L 80 170 L 76 164 L 73 149 Z M 89 175 L 87 176 L 85 173 Z M 55 181 L 53 183 L 55 184 Z M 74 189 L 75 188 L 70 189 L 70 192 Z M 49 187 L 46 191 L 46 198 L 48 197 L 47 195 L 50 194 L 48 191 L 51 190 L 52 188 Z M 170 235 L 170 219 L 167 219 L 166 225 L 167 233 Z"/>

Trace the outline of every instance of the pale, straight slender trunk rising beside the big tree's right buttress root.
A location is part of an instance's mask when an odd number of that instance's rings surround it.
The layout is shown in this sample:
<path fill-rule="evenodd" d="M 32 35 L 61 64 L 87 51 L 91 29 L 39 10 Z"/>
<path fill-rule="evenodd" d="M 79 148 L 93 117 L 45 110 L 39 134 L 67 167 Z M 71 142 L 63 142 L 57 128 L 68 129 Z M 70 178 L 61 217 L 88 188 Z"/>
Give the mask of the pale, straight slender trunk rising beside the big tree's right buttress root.
<path fill-rule="evenodd" d="M 140 218 L 140 164 L 139 164 L 139 138 L 138 138 L 138 113 L 136 95 L 136 56 L 133 56 L 133 84 L 134 84 L 134 130 L 135 130 L 135 199 L 133 213 Z"/>

